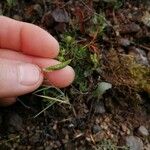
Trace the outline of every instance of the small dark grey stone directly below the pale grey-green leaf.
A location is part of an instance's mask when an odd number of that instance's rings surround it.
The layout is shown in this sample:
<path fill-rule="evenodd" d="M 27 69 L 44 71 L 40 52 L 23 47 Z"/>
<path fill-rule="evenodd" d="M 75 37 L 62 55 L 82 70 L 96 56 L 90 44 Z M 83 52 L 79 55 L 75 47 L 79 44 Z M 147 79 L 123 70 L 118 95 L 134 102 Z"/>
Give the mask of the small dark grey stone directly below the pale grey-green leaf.
<path fill-rule="evenodd" d="M 95 114 L 104 114 L 106 112 L 104 104 L 101 101 L 96 101 L 93 106 Z"/>

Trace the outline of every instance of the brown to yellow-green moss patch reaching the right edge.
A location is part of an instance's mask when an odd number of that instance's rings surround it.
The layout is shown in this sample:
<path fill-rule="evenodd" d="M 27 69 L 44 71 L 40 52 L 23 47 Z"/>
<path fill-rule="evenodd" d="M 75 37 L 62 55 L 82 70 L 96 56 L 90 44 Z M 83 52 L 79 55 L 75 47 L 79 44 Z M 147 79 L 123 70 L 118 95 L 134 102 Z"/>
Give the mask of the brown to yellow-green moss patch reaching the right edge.
<path fill-rule="evenodd" d="M 131 55 L 118 54 L 110 50 L 106 56 L 108 64 L 103 66 L 104 78 L 115 87 L 124 86 L 134 92 L 150 93 L 150 67 L 136 62 Z"/>

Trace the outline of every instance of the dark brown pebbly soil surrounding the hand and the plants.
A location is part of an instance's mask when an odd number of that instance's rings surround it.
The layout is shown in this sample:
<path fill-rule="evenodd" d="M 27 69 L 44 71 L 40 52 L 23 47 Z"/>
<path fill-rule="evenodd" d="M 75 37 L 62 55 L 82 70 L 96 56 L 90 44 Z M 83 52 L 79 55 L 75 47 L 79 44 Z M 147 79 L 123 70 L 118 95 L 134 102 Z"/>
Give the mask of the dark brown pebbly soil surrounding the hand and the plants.
<path fill-rule="evenodd" d="M 99 48 L 107 51 L 113 46 L 117 53 L 137 57 L 142 53 L 139 62 L 149 66 L 150 20 L 148 22 L 145 17 L 147 15 L 150 18 L 149 1 L 122 0 L 118 1 L 118 5 L 114 8 L 114 4 L 107 0 L 22 0 L 8 7 L 7 2 L 2 0 L 0 11 L 5 16 L 44 28 L 58 41 L 58 35 L 69 30 L 69 19 L 74 18 L 75 12 L 80 18 L 77 21 L 79 34 L 84 34 L 89 40 L 88 33 L 84 31 L 84 19 L 92 12 L 103 11 L 113 28 L 107 27 L 105 36 L 96 43 Z M 140 53 L 137 49 L 140 49 Z M 111 77 L 106 80 L 110 81 Z M 63 90 L 67 92 L 71 88 Z M 91 98 L 92 92 L 88 95 L 76 92 L 69 95 L 71 105 L 53 105 L 36 118 L 34 116 L 43 109 L 41 98 L 32 93 L 19 97 L 14 105 L 0 109 L 0 149 L 103 150 L 103 144 L 107 141 L 105 149 L 117 150 L 121 147 L 127 149 L 124 147 L 126 138 L 134 136 L 142 140 L 142 149 L 148 150 L 150 136 L 139 133 L 138 129 L 144 126 L 150 132 L 150 97 L 147 92 L 141 92 L 136 107 L 131 104 L 131 99 L 135 97 L 131 98 L 129 92 L 126 90 L 121 95 L 114 88 L 98 102 Z"/>

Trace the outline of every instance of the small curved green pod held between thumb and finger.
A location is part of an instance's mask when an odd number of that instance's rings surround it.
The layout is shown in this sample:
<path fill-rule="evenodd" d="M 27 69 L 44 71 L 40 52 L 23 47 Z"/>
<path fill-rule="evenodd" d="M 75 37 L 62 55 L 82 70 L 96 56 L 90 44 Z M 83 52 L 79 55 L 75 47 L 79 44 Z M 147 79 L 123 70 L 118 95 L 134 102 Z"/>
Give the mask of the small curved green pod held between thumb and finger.
<path fill-rule="evenodd" d="M 69 59 L 65 62 L 62 62 L 60 64 L 54 65 L 54 66 L 46 67 L 46 68 L 43 69 L 43 71 L 44 72 L 52 72 L 52 71 L 55 71 L 55 70 L 60 70 L 60 69 L 65 68 L 68 64 L 70 64 L 70 62 L 71 62 L 71 59 Z"/>

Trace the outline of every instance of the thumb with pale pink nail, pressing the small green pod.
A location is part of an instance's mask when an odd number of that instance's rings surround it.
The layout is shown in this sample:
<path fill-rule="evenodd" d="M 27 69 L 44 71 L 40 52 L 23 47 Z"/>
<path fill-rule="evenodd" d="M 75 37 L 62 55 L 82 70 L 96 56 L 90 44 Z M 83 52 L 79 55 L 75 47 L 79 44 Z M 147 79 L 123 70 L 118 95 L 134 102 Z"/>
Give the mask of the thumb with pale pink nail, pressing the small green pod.
<path fill-rule="evenodd" d="M 0 98 L 32 92 L 42 81 L 43 75 L 38 66 L 0 58 Z"/>

